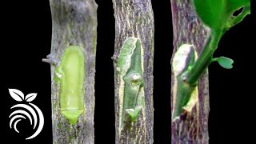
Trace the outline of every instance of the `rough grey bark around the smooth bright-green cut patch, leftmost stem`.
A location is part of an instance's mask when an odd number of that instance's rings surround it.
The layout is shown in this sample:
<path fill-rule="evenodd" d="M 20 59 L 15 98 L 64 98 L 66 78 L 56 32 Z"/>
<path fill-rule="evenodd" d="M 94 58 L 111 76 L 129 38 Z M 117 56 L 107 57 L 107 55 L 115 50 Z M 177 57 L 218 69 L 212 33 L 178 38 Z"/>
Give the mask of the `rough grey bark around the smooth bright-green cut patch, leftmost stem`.
<path fill-rule="evenodd" d="M 50 0 L 52 47 L 47 56 L 51 65 L 51 101 L 54 143 L 94 143 L 94 72 L 97 34 L 97 4 L 94 0 Z M 60 113 L 60 86 L 54 82 L 54 69 L 67 46 L 83 48 L 86 76 L 85 112 L 72 126 Z"/>

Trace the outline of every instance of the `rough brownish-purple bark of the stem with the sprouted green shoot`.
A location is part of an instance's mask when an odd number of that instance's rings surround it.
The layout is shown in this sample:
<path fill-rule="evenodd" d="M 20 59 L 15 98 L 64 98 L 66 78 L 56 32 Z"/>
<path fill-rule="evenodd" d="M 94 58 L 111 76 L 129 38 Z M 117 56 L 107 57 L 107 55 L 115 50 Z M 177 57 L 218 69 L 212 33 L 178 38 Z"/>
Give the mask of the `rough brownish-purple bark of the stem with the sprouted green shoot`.
<path fill-rule="evenodd" d="M 171 0 L 172 18 L 174 28 L 174 52 L 182 44 L 193 44 L 198 54 L 206 45 L 210 30 L 203 26 L 194 11 L 192 0 Z M 174 73 L 172 72 L 172 86 L 174 86 Z M 173 112 L 173 87 L 171 94 L 171 110 Z M 208 115 L 209 90 L 207 70 L 198 81 L 198 103 L 194 106 L 190 114 L 183 115 L 182 118 L 172 122 L 172 143 L 208 143 Z"/>

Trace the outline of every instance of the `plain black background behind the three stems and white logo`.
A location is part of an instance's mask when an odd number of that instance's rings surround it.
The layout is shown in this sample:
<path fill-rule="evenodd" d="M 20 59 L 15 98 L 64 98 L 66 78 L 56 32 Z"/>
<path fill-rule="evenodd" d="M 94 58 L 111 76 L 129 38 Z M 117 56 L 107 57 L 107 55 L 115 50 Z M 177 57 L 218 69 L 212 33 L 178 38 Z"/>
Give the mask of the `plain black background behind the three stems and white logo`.
<path fill-rule="evenodd" d="M 98 0 L 98 44 L 95 84 L 95 143 L 114 143 L 114 11 L 111 0 Z M 154 143 L 170 143 L 170 57 L 173 31 L 170 0 L 152 0 L 154 42 Z M 252 5 L 255 8 L 256 4 Z M 1 3 L 3 67 L 1 95 L 6 136 L 2 142 L 52 143 L 50 106 L 50 65 L 42 58 L 50 54 L 51 15 L 46 0 Z M 217 63 L 210 71 L 210 143 L 251 143 L 254 135 L 256 14 L 226 32 L 214 56 L 234 59 L 234 68 L 225 70 Z M 44 114 L 45 125 L 36 138 L 28 121 L 18 124 L 20 133 L 10 130 L 8 116 L 16 102 L 8 88 L 24 94 L 38 93 L 33 103 Z M 246 141 L 246 142 L 245 142 Z M 248 141 L 248 142 L 247 142 Z"/>

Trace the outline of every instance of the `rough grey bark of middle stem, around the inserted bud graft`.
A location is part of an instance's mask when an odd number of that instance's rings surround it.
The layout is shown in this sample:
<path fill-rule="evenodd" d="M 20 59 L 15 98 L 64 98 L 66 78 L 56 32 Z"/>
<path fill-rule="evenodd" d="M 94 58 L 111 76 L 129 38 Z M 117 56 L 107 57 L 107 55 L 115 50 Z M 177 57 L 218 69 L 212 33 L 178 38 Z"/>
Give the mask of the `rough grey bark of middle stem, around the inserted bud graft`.
<path fill-rule="evenodd" d="M 115 18 L 115 127 L 116 143 L 153 143 L 153 54 L 154 54 L 154 15 L 150 0 L 113 0 Z M 117 58 L 126 38 L 136 37 L 142 41 L 144 51 L 145 106 L 131 130 L 119 131 L 120 98 L 117 73 Z"/>

